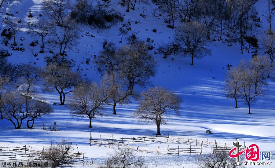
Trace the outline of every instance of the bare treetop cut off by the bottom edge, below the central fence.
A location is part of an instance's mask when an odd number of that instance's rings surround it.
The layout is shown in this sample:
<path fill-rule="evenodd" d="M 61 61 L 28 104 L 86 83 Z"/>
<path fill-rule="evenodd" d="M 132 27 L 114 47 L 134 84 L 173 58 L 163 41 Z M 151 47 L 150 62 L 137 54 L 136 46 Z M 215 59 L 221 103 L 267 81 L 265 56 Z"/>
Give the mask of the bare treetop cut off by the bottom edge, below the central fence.
<path fill-rule="evenodd" d="M 110 154 L 106 168 L 146 168 L 144 159 L 137 157 L 133 150 L 119 149 Z"/>

